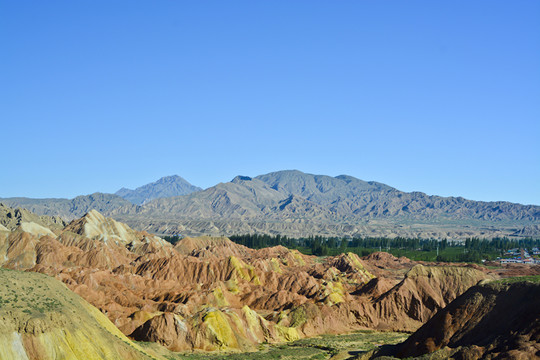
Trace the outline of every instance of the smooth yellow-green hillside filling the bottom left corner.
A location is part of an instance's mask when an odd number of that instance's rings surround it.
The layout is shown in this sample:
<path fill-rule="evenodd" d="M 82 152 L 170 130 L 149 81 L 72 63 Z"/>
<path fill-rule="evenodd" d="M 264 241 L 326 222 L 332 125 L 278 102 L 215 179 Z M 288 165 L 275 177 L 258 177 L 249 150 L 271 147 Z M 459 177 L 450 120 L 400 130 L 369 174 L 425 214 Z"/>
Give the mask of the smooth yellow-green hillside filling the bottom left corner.
<path fill-rule="evenodd" d="M 0 359 L 154 359 L 60 281 L 0 268 Z"/>

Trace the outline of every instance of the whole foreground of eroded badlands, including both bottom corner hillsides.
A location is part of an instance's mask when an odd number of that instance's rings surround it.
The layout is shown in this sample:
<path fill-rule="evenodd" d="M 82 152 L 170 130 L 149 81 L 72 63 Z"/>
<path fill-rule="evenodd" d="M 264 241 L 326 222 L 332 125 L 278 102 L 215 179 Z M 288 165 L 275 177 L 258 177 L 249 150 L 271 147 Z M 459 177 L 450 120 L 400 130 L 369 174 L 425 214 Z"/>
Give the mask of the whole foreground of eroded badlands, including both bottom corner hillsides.
<path fill-rule="evenodd" d="M 512 276 L 539 273 L 384 252 L 316 257 L 224 237 L 173 246 L 96 210 L 66 224 L 0 205 L 0 359 L 319 359 L 339 348 L 300 357 L 297 343 L 291 357 L 262 345 L 366 329 L 414 334 L 340 359 L 531 359 L 539 277 Z"/>

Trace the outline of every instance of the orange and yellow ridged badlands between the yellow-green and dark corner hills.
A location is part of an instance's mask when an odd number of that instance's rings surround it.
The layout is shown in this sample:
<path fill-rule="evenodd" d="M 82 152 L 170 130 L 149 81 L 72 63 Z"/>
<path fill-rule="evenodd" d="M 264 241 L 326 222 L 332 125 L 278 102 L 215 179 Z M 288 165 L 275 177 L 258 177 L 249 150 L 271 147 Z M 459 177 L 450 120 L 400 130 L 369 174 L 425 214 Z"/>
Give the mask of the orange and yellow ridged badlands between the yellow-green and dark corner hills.
<path fill-rule="evenodd" d="M 249 249 L 224 237 L 186 237 L 173 246 L 95 210 L 65 224 L 58 218 L 36 216 L 26 210 L 5 206 L 0 209 L 3 268 L 54 277 L 82 298 L 77 300 L 77 307 L 95 307 L 105 314 L 123 334 L 117 335 L 120 339 L 131 341 L 123 338 L 127 336 L 154 342 L 171 351 L 254 351 L 265 343 L 358 330 L 412 333 L 421 329 L 411 339 L 423 339 L 422 329 L 438 326 L 441 320 L 436 319 L 446 316 L 441 314 L 451 311 L 448 305 L 463 299 L 460 295 L 474 292 L 478 283 L 489 283 L 505 273 L 522 273 L 520 267 L 488 269 L 467 264 L 418 263 L 384 252 L 364 258 L 352 253 L 319 258 L 280 246 Z M 538 267 L 529 266 L 526 271 L 528 275 L 540 273 Z M 497 296 L 509 293 L 506 285 L 495 289 Z M 9 295 L 9 291 L 3 288 L 2 296 Z M 21 297 L 39 295 L 28 287 L 17 292 Z M 52 302 L 57 292 L 47 295 Z M 537 297 L 531 299 L 534 310 Z M 91 305 L 81 305 L 81 301 Z M 478 300 L 475 304 L 481 303 Z M 2 309 L 8 323 L 19 324 L 15 332 L 24 340 L 36 334 L 53 336 L 48 335 L 50 329 L 61 326 L 57 315 L 49 314 L 51 309 L 39 308 L 22 317 L 20 312 Z M 62 308 L 69 310 L 69 306 Z M 28 324 L 34 321 L 32 314 L 45 324 L 39 331 L 28 330 Z M 537 315 L 532 311 L 531 316 Z M 102 320 L 98 322 L 103 325 Z M 431 325 L 433 322 L 436 325 Z M 114 334 L 109 325 L 105 328 Z M 537 326 L 534 329 L 537 331 Z M 90 334 L 98 330 L 80 331 Z M 417 343 L 429 351 L 462 346 L 464 336 L 446 330 L 444 333 L 451 341 L 437 338 Z M 107 337 L 107 333 L 103 334 Z M 4 339 L 11 341 L 9 337 Z M 516 351 L 534 354 L 531 349 L 536 338 L 531 335 L 520 339 L 522 345 Z M 24 349 L 27 355 L 41 353 L 41 348 L 34 345 L 36 341 L 24 340 L 17 348 Z M 403 354 L 407 356 L 420 353 L 406 351 Z M 484 352 L 489 351 L 487 348 Z M 154 352 L 152 356 L 158 355 Z"/>

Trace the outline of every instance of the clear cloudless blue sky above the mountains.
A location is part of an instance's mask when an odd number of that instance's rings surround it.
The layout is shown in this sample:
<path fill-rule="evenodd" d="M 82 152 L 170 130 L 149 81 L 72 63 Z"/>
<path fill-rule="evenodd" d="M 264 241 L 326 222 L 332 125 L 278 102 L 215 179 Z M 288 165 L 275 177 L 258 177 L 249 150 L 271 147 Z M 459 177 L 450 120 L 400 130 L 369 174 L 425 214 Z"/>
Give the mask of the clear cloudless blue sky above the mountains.
<path fill-rule="evenodd" d="M 540 204 L 540 2 L 0 0 L 0 197 L 299 169 Z"/>

